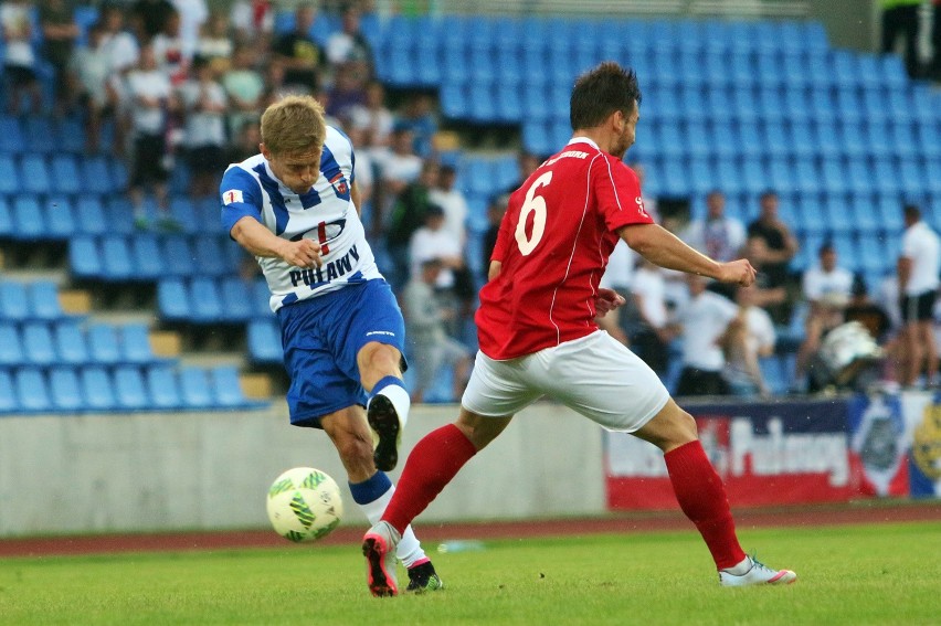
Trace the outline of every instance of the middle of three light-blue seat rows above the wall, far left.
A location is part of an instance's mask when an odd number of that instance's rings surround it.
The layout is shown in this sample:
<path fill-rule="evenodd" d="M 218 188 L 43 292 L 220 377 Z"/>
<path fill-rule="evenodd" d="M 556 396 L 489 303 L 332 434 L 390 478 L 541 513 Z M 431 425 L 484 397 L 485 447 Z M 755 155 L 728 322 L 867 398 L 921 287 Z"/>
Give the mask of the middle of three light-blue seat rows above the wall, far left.
<path fill-rule="evenodd" d="M 52 365 L 165 362 L 150 343 L 144 323 L 0 321 L 0 365 Z"/>

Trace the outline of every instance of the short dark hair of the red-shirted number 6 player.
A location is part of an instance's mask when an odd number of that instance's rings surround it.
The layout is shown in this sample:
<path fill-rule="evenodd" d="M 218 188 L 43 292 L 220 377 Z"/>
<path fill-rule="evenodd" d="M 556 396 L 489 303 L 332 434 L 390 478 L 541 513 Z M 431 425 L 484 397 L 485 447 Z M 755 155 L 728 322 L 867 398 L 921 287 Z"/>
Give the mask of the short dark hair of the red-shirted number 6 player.
<path fill-rule="evenodd" d="M 624 114 L 641 104 L 637 74 L 613 61 L 605 61 L 575 81 L 569 100 L 572 130 L 593 128 L 615 110 Z"/>

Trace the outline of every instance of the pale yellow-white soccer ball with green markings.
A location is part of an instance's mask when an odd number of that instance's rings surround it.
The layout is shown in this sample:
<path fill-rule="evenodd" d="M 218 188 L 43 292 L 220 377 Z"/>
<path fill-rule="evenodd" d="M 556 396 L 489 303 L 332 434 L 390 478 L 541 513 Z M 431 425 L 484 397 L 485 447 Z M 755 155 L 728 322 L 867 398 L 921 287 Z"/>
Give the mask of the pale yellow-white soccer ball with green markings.
<path fill-rule="evenodd" d="M 337 481 L 313 467 L 295 467 L 268 489 L 268 519 L 290 541 L 316 541 L 330 534 L 343 517 Z"/>

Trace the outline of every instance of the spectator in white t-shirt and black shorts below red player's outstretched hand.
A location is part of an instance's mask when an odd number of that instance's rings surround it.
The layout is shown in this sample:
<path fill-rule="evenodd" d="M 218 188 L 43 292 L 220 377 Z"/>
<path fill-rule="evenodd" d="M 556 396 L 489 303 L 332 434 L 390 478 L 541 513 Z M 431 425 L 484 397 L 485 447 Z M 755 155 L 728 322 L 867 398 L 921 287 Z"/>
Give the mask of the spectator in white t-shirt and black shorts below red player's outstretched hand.
<path fill-rule="evenodd" d="M 683 370 L 676 394 L 728 395 L 722 375 L 726 357 L 722 346 L 730 325 L 739 315 L 734 303 L 706 289 L 706 278 L 687 275 L 689 301 L 676 314 L 683 349 Z"/>

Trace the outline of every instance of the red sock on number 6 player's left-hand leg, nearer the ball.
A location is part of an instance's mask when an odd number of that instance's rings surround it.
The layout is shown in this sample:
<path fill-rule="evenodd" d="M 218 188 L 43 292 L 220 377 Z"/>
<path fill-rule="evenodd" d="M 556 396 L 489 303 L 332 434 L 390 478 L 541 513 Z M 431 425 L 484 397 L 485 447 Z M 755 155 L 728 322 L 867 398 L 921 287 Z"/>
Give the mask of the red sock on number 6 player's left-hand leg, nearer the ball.
<path fill-rule="evenodd" d="M 405 527 L 431 505 L 475 454 L 477 448 L 454 424 L 425 435 L 409 454 L 382 519 L 399 532 L 405 532 Z"/>

